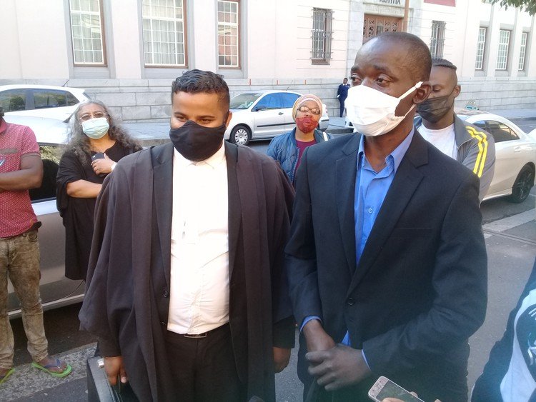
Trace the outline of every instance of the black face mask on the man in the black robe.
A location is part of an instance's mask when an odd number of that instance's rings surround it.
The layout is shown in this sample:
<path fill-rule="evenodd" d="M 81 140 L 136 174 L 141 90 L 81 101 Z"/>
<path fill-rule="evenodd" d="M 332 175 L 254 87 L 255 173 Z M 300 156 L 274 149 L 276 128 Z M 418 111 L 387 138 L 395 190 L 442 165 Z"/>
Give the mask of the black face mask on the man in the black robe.
<path fill-rule="evenodd" d="M 226 129 L 225 123 L 219 127 L 205 127 L 189 120 L 178 129 L 169 130 L 169 138 L 184 158 L 200 162 L 216 154 Z"/>

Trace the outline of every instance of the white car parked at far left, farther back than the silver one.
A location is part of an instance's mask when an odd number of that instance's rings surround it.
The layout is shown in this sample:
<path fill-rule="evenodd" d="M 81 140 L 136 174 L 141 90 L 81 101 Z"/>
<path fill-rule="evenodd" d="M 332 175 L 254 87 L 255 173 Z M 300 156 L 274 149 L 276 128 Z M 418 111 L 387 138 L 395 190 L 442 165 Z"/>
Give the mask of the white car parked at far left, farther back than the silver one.
<path fill-rule="evenodd" d="M 1 85 L 0 106 L 6 116 L 36 116 L 65 120 L 79 103 L 89 101 L 84 89 L 49 85 Z"/>

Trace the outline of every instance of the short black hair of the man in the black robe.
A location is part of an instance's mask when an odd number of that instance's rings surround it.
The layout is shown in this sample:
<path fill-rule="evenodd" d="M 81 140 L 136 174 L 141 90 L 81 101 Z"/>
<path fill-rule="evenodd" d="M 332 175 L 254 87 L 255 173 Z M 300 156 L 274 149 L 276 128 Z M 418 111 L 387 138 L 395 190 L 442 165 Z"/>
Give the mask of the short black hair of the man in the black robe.
<path fill-rule="evenodd" d="M 221 101 L 224 101 L 229 108 L 229 86 L 224 81 L 223 76 L 215 74 L 212 71 L 203 71 L 193 69 L 184 71 L 172 84 L 172 101 L 173 95 L 177 92 L 188 92 L 189 94 L 199 94 L 208 92 L 209 94 L 218 94 Z"/>

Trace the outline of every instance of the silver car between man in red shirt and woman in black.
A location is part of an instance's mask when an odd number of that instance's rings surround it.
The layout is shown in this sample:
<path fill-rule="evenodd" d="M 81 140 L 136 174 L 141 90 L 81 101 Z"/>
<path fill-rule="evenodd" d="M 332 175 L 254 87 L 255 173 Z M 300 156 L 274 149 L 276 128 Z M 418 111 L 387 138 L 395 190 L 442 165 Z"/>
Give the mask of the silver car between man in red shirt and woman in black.
<path fill-rule="evenodd" d="M 31 204 L 39 228 L 41 249 L 41 302 L 45 310 L 77 303 L 84 298 L 84 281 L 65 278 L 65 228 L 56 208 L 56 173 L 62 144 L 69 133 L 69 124 L 61 120 L 22 116 L 4 116 L 6 121 L 30 126 L 36 134 L 43 160 L 43 181 L 39 189 L 30 190 Z M 19 299 L 9 283 L 9 316 L 20 316 Z"/>

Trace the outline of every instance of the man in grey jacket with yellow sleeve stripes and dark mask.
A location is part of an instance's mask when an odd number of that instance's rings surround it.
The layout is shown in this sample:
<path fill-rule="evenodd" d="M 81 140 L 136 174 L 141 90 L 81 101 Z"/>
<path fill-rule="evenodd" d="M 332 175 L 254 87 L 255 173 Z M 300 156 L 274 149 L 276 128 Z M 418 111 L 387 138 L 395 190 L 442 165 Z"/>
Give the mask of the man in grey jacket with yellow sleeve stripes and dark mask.
<path fill-rule="evenodd" d="M 445 59 L 432 59 L 430 85 L 430 96 L 417 106 L 420 116 L 415 118 L 415 127 L 426 141 L 478 176 L 482 201 L 495 169 L 493 136 L 456 116 L 454 101 L 460 95 L 461 86 L 454 64 Z"/>

